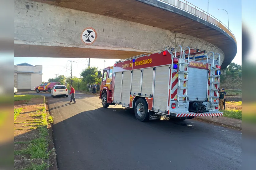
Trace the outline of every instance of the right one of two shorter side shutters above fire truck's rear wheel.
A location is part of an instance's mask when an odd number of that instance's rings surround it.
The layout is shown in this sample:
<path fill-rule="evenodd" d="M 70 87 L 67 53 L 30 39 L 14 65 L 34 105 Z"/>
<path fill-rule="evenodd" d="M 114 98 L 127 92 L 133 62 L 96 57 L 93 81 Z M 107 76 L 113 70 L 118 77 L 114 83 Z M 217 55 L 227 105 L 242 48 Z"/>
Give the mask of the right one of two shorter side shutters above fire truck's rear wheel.
<path fill-rule="evenodd" d="M 153 68 L 143 69 L 142 88 L 141 88 L 142 96 L 150 96 L 152 94 L 153 75 L 154 75 Z"/>

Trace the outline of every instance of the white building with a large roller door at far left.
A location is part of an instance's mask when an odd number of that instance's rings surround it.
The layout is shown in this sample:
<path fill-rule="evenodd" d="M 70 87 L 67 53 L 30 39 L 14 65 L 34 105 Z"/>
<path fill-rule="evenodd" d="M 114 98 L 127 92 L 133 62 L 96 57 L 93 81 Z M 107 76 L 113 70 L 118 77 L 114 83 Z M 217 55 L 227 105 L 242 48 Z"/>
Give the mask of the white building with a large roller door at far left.
<path fill-rule="evenodd" d="M 14 65 L 14 87 L 17 90 L 34 90 L 42 83 L 43 66 L 21 63 Z"/>

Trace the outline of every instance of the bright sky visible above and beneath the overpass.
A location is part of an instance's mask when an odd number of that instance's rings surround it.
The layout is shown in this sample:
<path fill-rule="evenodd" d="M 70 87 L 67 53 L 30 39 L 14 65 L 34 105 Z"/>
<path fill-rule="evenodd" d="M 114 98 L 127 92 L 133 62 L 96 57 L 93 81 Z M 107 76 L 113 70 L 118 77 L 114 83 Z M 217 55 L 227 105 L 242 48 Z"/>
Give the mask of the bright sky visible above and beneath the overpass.
<path fill-rule="evenodd" d="M 189 3 L 207 11 L 208 0 L 188 0 Z M 242 23 L 242 9 L 241 0 L 209 0 L 209 14 L 216 17 L 218 20 L 228 26 L 227 13 L 224 10 L 218 10 L 219 8 L 227 10 L 229 14 L 229 29 L 235 35 L 237 41 L 237 54 L 232 62 L 242 64 L 241 61 L 241 23 Z M 246 5 L 247 6 L 247 5 Z M 243 18 L 244 19 L 244 18 Z M 248 20 L 248 18 L 246 18 Z M 252 19 L 252 18 L 251 18 Z M 249 23 L 249 20 L 248 20 Z M 255 36 L 255 35 L 254 35 Z M 36 57 L 14 57 L 14 65 L 19 63 L 29 63 L 32 65 L 43 65 L 43 81 L 48 81 L 49 78 L 56 77 L 55 74 L 70 76 L 70 62 L 67 60 L 74 60 L 72 62 L 72 74 L 73 76 L 80 77 L 80 73 L 83 69 L 88 67 L 88 59 L 85 58 L 51 58 L 45 60 L 45 58 Z M 104 62 L 105 60 L 105 62 Z M 255 60 L 255 59 L 254 59 Z M 104 67 L 113 66 L 118 59 L 90 59 L 90 66 L 103 69 Z M 67 67 L 68 69 L 64 68 Z"/>

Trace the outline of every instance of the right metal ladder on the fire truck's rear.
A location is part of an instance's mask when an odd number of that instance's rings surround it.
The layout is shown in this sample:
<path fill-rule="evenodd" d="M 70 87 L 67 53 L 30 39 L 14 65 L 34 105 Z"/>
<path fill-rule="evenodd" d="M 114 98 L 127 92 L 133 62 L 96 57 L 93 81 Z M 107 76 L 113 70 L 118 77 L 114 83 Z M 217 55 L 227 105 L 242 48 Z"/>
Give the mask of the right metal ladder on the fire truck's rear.
<path fill-rule="evenodd" d="M 212 99 L 216 98 L 218 99 L 219 98 L 219 92 L 220 92 L 220 75 L 218 74 L 215 74 L 215 72 L 218 72 L 218 70 L 220 70 L 220 54 L 219 53 L 215 53 L 214 52 L 209 52 L 208 53 L 208 56 L 209 54 L 212 53 L 212 67 L 211 67 L 211 82 L 212 82 L 212 87 L 211 87 L 211 96 L 210 96 L 210 101 L 211 101 L 211 105 L 210 107 L 212 106 L 218 106 L 219 104 L 217 103 L 213 103 Z M 214 60 L 215 60 L 215 55 L 219 55 L 218 57 L 218 67 L 215 67 L 215 63 L 214 63 Z M 206 60 L 206 63 L 208 63 L 208 56 L 207 56 L 207 60 Z M 217 79 L 217 82 L 215 81 L 215 78 Z M 217 88 L 214 89 L 214 85 L 217 85 Z M 214 92 L 216 92 L 217 96 L 214 96 Z M 216 100 L 217 101 L 217 100 Z"/>

